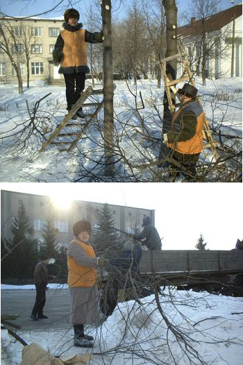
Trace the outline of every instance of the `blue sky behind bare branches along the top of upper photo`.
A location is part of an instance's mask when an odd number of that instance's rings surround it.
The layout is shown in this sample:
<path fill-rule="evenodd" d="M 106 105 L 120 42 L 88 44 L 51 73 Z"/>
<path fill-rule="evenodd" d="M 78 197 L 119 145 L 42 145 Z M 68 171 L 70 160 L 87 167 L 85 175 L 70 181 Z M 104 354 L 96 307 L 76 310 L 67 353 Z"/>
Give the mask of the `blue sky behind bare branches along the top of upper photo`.
<path fill-rule="evenodd" d="M 76 4 L 79 2 L 79 4 Z M 242 1 L 235 0 L 235 4 L 241 3 Z M 54 8 L 56 4 L 60 3 L 58 6 L 58 10 L 54 10 L 47 15 L 42 15 L 42 17 L 60 17 L 67 6 L 70 8 L 70 3 L 74 8 L 77 8 L 79 12 L 87 11 L 90 6 L 94 6 L 94 0 L 81 0 L 81 1 L 69 1 L 69 0 L 1 0 L 0 1 L 0 11 L 4 12 L 9 16 L 33 16 L 39 13 L 45 12 Z M 112 0 L 112 16 L 122 17 L 126 14 L 126 8 L 131 6 L 133 0 Z M 190 3 L 190 0 L 178 0 L 178 14 L 185 10 L 187 4 Z M 75 5 L 76 4 L 76 5 Z M 125 5 L 124 5 L 125 4 Z M 221 10 L 226 8 L 231 8 L 234 6 L 234 3 L 231 3 L 231 0 L 221 0 Z M 81 15 L 82 18 L 82 15 Z"/>

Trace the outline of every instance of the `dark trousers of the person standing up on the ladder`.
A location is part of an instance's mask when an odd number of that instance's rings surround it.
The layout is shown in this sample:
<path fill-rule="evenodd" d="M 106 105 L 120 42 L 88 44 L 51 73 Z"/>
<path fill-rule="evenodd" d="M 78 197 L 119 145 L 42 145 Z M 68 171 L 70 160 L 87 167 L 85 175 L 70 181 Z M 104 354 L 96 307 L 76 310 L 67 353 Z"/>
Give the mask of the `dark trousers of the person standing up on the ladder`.
<path fill-rule="evenodd" d="M 85 88 L 85 72 L 78 72 L 78 74 L 64 74 L 66 83 L 66 99 L 67 110 L 71 110 L 72 105 L 80 98 L 81 92 Z M 80 108 L 82 110 L 82 108 Z"/>

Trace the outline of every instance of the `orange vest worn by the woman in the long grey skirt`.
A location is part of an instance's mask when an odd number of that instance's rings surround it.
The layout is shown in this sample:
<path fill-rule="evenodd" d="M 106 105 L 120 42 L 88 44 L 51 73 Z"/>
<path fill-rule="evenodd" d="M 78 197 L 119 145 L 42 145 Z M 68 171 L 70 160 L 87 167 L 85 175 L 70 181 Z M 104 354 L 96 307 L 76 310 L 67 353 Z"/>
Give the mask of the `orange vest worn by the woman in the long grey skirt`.
<path fill-rule="evenodd" d="M 84 244 L 76 239 L 70 244 L 74 242 L 83 248 L 87 256 L 95 257 L 94 249 L 90 244 Z M 93 287 L 97 282 L 97 271 L 92 266 L 78 265 L 72 257 L 67 256 L 67 268 L 67 284 L 69 287 Z"/>

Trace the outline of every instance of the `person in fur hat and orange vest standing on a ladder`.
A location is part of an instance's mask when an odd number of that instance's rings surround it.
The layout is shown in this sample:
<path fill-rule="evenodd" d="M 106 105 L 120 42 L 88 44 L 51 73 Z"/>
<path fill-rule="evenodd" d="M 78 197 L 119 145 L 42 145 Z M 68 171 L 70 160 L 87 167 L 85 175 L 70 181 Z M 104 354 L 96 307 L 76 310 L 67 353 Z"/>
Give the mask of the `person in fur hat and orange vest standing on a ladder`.
<path fill-rule="evenodd" d="M 60 31 L 53 51 L 53 61 L 56 65 L 60 64 L 59 73 L 65 78 L 67 110 L 71 110 L 72 105 L 80 98 L 85 88 L 85 74 L 90 72 L 87 66 L 86 42 L 103 42 L 103 32 L 90 33 L 83 29 L 83 24 L 78 23 L 79 17 L 76 9 L 65 11 L 64 30 Z M 82 108 L 72 119 L 76 117 L 85 118 Z"/>

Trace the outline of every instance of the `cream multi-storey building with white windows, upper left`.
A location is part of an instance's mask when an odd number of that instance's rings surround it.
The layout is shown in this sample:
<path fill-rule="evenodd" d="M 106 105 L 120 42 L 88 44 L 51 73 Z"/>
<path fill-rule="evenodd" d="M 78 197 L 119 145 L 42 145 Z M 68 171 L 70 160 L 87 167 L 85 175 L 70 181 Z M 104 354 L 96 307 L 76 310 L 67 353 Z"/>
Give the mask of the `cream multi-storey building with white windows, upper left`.
<path fill-rule="evenodd" d="M 62 30 L 64 19 L 8 19 L 0 17 L 12 57 L 20 65 L 22 80 L 27 80 L 26 52 L 28 51 L 30 80 L 63 80 L 58 66 L 53 65 L 52 51 Z M 6 54 L 6 40 L 0 32 L 0 82 L 16 82 L 16 72 Z"/>

